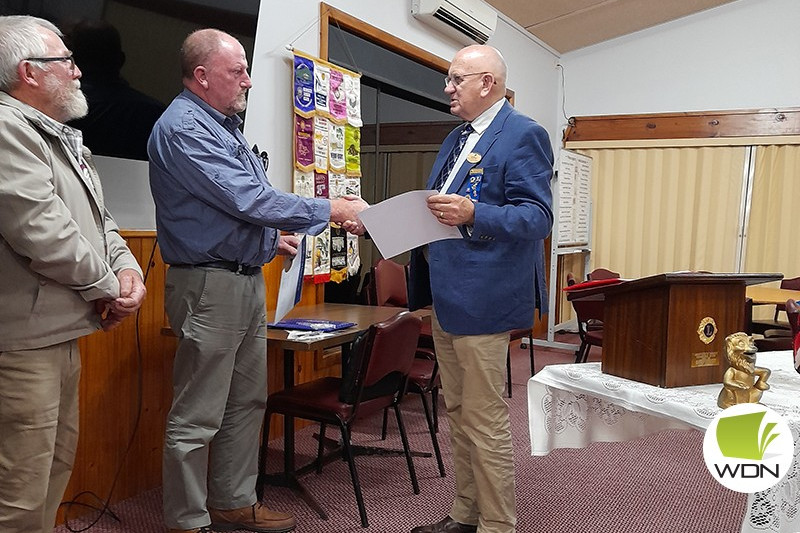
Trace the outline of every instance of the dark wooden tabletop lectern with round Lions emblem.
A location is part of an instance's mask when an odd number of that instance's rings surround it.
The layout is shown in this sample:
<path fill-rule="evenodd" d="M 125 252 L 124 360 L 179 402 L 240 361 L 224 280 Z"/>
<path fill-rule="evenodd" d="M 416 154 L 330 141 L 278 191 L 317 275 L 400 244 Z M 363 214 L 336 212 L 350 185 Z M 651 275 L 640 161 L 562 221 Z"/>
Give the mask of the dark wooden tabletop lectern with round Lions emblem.
<path fill-rule="evenodd" d="M 676 272 L 571 291 L 605 299 L 603 372 L 659 387 L 721 383 L 725 337 L 745 330 L 745 287 L 781 274 Z"/>

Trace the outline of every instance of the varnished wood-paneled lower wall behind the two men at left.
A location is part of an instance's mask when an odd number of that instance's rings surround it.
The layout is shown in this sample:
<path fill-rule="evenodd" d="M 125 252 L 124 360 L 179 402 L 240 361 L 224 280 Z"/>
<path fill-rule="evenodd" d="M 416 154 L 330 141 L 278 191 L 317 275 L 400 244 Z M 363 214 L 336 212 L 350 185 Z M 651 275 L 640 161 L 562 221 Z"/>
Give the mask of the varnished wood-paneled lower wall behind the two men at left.
<path fill-rule="evenodd" d="M 164 333 L 168 327 L 164 314 L 166 266 L 154 232 L 123 231 L 123 236 L 142 270 L 147 269 L 152 255 L 147 298 L 139 313 L 138 327 L 131 317 L 111 332 L 97 332 L 79 341 L 83 365 L 80 438 L 65 501 L 84 491 L 105 500 L 113 486 L 111 501 L 116 502 L 161 485 L 161 449 L 172 402 L 176 347 L 175 338 Z M 277 260 L 264 267 L 268 309 L 275 308 L 280 271 Z M 301 305 L 322 301 L 322 291 L 322 285 L 307 285 Z M 283 354 L 268 348 L 267 355 L 268 390 L 279 390 L 283 387 Z M 295 381 L 337 375 L 339 362 L 336 353 L 298 353 Z M 280 417 L 274 417 L 270 435 L 283 435 Z M 96 504 L 86 496 L 78 501 Z M 58 523 L 66 518 L 64 509 L 62 506 Z M 69 517 L 85 513 L 85 508 L 73 506 Z"/>

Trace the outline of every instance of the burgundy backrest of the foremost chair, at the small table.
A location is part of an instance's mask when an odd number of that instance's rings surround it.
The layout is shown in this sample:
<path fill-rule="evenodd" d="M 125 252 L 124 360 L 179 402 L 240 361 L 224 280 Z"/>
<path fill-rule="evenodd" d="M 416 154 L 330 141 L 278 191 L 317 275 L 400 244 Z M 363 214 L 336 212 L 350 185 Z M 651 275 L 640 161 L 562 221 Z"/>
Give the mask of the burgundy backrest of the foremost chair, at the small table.
<path fill-rule="evenodd" d="M 408 311 L 373 324 L 353 343 L 339 399 L 359 404 L 381 396 L 389 403 L 405 393 L 422 320 Z M 355 412 L 354 412 L 355 414 Z"/>

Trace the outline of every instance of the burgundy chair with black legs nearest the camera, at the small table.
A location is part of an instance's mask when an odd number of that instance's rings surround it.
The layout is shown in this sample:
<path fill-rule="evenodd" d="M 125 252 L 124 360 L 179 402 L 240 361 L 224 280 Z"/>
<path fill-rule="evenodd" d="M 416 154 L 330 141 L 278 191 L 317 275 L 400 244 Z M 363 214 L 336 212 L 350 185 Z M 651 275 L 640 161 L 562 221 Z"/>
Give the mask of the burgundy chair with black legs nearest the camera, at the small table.
<path fill-rule="evenodd" d="M 344 377 L 319 378 L 270 394 L 264 414 L 264 431 L 259 455 L 262 465 L 266 464 L 269 421 L 273 414 L 320 423 L 319 447 L 315 460 L 318 473 L 322 472 L 324 463 L 326 426 L 336 424 L 341 431 L 343 454 L 350 468 L 361 526 L 368 527 L 364 498 L 350 442 L 351 428 L 358 419 L 392 408 L 403 442 L 411 485 L 414 494 L 419 494 L 417 475 L 399 405 L 414 364 L 421 327 L 422 321 L 418 317 L 408 311 L 400 312 L 389 320 L 372 325 L 356 339 Z"/>

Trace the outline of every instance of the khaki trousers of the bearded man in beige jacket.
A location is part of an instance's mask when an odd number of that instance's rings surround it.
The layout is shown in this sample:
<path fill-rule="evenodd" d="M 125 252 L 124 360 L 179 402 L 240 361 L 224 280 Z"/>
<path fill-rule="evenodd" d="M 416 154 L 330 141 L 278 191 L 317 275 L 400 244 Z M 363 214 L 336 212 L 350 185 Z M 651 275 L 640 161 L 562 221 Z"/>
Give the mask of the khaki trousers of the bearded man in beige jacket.
<path fill-rule="evenodd" d="M 0 352 L 0 531 L 51 533 L 78 445 L 78 342 Z"/>

